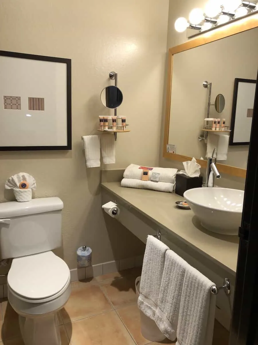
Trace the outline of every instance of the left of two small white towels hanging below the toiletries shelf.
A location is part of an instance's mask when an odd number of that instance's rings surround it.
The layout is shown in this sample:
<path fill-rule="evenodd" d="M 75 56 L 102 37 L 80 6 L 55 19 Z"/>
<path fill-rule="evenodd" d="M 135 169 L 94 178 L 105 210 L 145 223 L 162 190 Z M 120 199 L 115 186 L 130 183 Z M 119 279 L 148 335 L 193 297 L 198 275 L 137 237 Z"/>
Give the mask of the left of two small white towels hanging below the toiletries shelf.
<path fill-rule="evenodd" d="M 83 137 L 85 159 L 87 168 L 100 167 L 100 144 L 98 135 Z"/>

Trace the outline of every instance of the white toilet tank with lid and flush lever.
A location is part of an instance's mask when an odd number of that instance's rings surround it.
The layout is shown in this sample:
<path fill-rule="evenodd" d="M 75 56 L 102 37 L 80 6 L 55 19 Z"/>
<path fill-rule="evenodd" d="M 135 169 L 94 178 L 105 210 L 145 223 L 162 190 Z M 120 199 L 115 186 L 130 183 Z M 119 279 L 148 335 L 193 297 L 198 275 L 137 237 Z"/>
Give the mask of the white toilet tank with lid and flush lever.
<path fill-rule="evenodd" d="M 0 204 L 0 257 L 15 258 L 61 247 L 59 198 L 39 198 Z"/>

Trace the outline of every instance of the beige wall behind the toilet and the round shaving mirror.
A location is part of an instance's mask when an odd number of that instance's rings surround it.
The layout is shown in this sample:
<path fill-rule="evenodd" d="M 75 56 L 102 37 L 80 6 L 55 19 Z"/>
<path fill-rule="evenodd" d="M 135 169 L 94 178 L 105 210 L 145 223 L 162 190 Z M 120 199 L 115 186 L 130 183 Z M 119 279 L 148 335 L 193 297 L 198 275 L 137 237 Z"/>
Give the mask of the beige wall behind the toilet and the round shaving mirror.
<path fill-rule="evenodd" d="M 118 115 L 128 117 L 131 132 L 118 135 L 116 164 L 105 168 L 158 164 L 168 4 L 1 1 L 1 50 L 72 59 L 73 150 L 0 152 L 0 201 L 11 198 L 4 183 L 20 171 L 35 177 L 35 197 L 64 201 L 60 255 L 70 268 L 83 244 L 92 247 L 94 264 L 142 253 L 142 243 L 116 220 L 105 224 L 100 169 L 86 169 L 81 136 L 97 134 L 98 115 L 109 113 L 100 92 L 112 83 L 108 73 L 115 70 L 124 96 Z"/>

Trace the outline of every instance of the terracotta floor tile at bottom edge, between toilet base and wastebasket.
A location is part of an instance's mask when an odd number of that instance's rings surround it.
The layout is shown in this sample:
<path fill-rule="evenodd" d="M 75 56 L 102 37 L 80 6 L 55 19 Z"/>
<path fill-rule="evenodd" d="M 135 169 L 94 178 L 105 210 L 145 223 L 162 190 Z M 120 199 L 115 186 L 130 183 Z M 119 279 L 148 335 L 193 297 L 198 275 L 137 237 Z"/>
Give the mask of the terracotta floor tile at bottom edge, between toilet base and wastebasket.
<path fill-rule="evenodd" d="M 115 311 L 65 325 L 73 345 L 135 345 Z"/>

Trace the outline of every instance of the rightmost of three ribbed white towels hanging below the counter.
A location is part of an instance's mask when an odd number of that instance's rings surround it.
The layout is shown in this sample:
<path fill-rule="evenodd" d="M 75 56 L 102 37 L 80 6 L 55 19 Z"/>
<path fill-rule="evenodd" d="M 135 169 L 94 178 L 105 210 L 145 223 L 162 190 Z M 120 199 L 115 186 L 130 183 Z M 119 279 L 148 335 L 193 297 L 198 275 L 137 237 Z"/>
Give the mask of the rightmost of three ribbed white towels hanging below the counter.
<path fill-rule="evenodd" d="M 214 283 L 190 265 L 185 270 L 176 345 L 211 345 L 215 318 Z"/>

